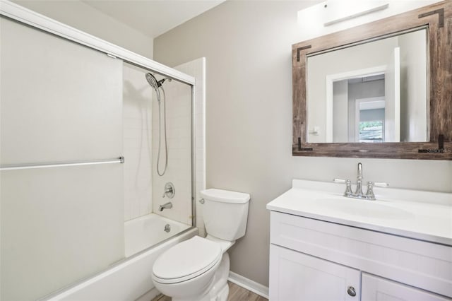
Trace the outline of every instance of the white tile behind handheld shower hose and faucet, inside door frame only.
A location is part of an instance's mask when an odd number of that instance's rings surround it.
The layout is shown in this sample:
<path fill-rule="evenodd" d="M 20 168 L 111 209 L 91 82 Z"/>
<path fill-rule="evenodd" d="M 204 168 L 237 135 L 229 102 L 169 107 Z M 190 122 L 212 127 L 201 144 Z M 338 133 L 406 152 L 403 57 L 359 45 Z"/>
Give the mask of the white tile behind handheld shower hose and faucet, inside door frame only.
<path fill-rule="evenodd" d="M 157 175 L 159 105 L 158 102 L 153 102 L 153 211 L 191 225 L 191 86 L 177 81 L 165 81 L 162 87 L 165 94 L 160 93 L 160 106 L 162 117 L 164 104 L 166 107 L 168 165 L 165 175 Z M 163 129 L 163 118 L 161 125 Z M 163 131 L 161 134 L 160 172 L 165 169 Z M 175 194 L 172 199 L 163 196 L 167 182 L 174 184 Z M 172 208 L 158 211 L 159 206 L 167 202 L 172 203 Z"/>

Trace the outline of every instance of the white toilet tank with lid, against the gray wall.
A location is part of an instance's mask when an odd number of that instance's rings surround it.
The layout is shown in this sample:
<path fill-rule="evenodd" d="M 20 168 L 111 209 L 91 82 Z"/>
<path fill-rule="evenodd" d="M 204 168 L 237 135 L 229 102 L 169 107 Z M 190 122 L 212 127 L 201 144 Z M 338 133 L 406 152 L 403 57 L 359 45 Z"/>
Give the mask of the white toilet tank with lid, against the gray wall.
<path fill-rule="evenodd" d="M 201 191 L 203 219 L 208 235 L 234 241 L 245 235 L 249 194 L 221 189 Z"/>

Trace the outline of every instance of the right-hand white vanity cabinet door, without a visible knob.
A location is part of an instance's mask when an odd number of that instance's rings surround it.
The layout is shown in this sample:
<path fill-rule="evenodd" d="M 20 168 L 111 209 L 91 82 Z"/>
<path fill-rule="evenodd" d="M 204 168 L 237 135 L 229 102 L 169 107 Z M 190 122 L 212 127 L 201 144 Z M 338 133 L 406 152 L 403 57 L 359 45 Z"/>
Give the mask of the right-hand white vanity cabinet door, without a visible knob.
<path fill-rule="evenodd" d="M 362 273 L 362 301 L 446 301 L 446 297 Z"/>

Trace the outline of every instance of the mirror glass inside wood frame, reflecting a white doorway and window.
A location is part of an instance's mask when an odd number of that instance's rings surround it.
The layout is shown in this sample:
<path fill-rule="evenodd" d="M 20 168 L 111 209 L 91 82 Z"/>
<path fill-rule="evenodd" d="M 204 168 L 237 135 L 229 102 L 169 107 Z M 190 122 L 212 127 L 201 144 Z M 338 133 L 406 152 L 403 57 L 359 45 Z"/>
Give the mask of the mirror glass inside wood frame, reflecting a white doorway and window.
<path fill-rule="evenodd" d="M 307 142 L 427 141 L 425 28 L 307 59 Z"/>

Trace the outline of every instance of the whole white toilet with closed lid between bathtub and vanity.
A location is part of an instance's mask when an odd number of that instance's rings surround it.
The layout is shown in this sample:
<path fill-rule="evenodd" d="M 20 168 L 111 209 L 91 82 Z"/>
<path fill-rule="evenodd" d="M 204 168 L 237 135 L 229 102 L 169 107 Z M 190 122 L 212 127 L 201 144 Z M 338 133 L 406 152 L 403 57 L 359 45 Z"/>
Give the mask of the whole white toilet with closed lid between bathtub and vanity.
<path fill-rule="evenodd" d="M 245 235 L 249 194 L 201 191 L 207 237 L 195 236 L 167 249 L 153 265 L 153 282 L 173 301 L 226 301 L 234 242 Z"/>

